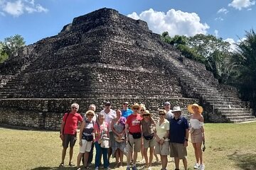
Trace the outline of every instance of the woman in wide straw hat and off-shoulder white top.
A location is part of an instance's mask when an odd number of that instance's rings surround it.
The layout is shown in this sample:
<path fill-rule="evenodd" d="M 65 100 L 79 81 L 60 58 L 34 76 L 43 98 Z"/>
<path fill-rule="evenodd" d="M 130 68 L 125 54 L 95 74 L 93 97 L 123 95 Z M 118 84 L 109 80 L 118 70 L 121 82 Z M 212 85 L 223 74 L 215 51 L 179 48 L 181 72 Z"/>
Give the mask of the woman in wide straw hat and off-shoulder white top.
<path fill-rule="evenodd" d="M 198 106 L 198 104 L 193 103 L 188 106 L 188 112 L 191 113 L 191 143 L 195 150 L 196 164 L 194 169 L 205 169 L 203 164 L 203 152 L 202 152 L 202 142 L 205 141 L 204 128 L 203 128 L 203 108 Z"/>

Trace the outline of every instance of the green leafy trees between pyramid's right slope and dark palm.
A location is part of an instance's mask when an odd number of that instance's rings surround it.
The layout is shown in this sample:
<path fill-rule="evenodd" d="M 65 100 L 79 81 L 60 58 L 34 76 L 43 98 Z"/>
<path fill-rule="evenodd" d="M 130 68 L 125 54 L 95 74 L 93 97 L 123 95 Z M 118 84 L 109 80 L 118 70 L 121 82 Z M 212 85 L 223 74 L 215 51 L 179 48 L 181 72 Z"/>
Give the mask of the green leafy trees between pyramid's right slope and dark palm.
<path fill-rule="evenodd" d="M 185 57 L 196 60 L 206 65 L 206 69 L 213 72 L 221 82 L 229 79 L 233 64 L 227 66 L 230 61 L 230 43 L 216 38 L 214 35 L 198 34 L 192 37 L 175 35 L 171 38 L 167 32 L 161 35 L 161 39 L 174 45 Z"/>

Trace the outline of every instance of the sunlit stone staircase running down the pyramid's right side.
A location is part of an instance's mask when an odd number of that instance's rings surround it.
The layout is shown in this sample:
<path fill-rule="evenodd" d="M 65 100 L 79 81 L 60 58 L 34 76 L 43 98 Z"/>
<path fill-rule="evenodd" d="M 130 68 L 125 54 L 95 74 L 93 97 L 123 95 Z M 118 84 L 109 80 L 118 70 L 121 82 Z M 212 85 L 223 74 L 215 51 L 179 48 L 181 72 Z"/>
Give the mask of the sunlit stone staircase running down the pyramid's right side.
<path fill-rule="evenodd" d="M 200 98 L 201 102 L 208 107 L 208 118 L 213 122 L 245 123 L 256 121 L 255 116 L 248 103 L 241 101 L 238 91 L 230 87 L 225 89 L 214 79 L 213 74 L 205 70 L 198 70 L 184 65 L 182 57 L 170 57 L 165 55 L 169 61 L 167 68 L 172 68 L 181 81 L 183 90 L 188 97 Z M 207 75 L 207 76 L 205 76 Z M 221 120 L 215 120 L 220 118 Z"/>

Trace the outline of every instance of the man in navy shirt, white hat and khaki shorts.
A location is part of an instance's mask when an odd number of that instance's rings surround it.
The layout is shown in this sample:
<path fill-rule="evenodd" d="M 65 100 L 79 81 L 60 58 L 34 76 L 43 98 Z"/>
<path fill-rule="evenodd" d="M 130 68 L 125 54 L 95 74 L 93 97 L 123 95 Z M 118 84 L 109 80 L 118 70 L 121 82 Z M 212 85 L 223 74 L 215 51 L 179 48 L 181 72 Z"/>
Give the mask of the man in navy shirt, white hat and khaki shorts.
<path fill-rule="evenodd" d="M 181 116 L 181 108 L 179 106 L 174 106 L 174 118 L 170 121 L 170 149 L 171 157 L 174 157 L 175 170 L 179 170 L 179 160 L 182 159 L 184 169 L 188 169 L 188 162 L 186 159 L 188 146 L 188 120 Z"/>

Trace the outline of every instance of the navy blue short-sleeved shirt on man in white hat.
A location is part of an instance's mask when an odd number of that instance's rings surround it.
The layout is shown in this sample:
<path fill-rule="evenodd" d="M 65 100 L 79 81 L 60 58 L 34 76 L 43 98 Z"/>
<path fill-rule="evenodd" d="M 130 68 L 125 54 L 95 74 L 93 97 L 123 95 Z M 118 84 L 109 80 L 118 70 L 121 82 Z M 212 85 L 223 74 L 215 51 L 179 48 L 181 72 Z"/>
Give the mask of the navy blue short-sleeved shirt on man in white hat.
<path fill-rule="evenodd" d="M 181 116 L 177 120 L 171 118 L 170 121 L 170 142 L 174 143 L 184 143 L 186 137 L 186 129 L 188 129 L 188 120 Z"/>

